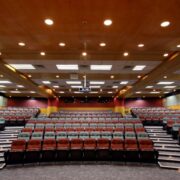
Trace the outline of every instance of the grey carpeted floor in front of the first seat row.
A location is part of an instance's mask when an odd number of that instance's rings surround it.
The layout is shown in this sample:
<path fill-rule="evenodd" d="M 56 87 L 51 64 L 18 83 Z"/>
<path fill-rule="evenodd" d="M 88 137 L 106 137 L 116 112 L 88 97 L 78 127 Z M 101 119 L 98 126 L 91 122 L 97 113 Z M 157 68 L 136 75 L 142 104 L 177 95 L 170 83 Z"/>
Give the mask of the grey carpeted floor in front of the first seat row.
<path fill-rule="evenodd" d="M 39 165 L 6 167 L 1 180 L 179 180 L 180 173 L 143 165 Z"/>

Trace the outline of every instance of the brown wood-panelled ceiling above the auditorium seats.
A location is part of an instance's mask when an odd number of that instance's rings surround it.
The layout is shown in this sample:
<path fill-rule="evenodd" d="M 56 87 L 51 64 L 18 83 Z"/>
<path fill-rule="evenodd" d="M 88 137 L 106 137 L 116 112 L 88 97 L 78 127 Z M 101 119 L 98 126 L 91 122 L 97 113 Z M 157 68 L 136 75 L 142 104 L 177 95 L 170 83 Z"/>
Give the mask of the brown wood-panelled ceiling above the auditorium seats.
<path fill-rule="evenodd" d="M 163 97 L 180 87 L 179 11 L 179 0 L 1 0 L 0 92 L 33 97 Z M 44 23 L 47 18 L 53 20 L 52 26 Z M 106 19 L 112 20 L 111 26 L 104 26 Z M 164 21 L 170 25 L 161 27 Z M 102 42 L 106 46 L 101 47 Z M 31 64 L 35 69 L 12 71 L 5 64 Z M 79 70 L 58 70 L 57 64 L 77 64 Z M 90 65 L 112 65 L 112 69 L 95 71 Z M 133 71 L 136 65 L 145 68 Z M 90 81 L 104 84 L 92 88 L 96 93 L 84 94 L 66 83 L 83 85 L 84 75 L 88 86 Z M 157 84 L 160 81 L 175 87 L 165 88 Z"/>

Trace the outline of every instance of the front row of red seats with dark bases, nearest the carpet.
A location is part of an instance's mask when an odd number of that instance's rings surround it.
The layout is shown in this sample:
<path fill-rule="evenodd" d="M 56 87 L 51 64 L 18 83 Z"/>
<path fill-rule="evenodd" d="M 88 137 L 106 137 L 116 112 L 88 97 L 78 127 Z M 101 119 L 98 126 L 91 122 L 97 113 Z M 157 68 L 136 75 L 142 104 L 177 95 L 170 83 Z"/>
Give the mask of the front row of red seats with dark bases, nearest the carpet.
<path fill-rule="evenodd" d="M 6 154 L 7 163 L 59 160 L 156 161 L 150 139 L 54 139 L 15 140 Z"/>

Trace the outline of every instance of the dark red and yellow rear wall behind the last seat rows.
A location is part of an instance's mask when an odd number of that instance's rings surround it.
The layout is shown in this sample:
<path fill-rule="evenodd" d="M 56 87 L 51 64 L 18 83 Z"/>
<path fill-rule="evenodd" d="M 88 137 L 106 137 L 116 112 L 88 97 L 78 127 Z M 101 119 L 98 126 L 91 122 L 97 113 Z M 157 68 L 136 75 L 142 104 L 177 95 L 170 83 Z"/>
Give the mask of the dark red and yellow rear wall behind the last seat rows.
<path fill-rule="evenodd" d="M 82 103 L 76 100 L 73 103 L 65 103 L 61 99 L 29 99 L 9 98 L 7 106 L 39 107 L 42 113 L 49 114 L 59 110 L 111 110 L 115 112 L 129 112 L 131 107 L 162 107 L 162 99 L 114 99 L 110 102 L 99 103 L 93 100 Z"/>

